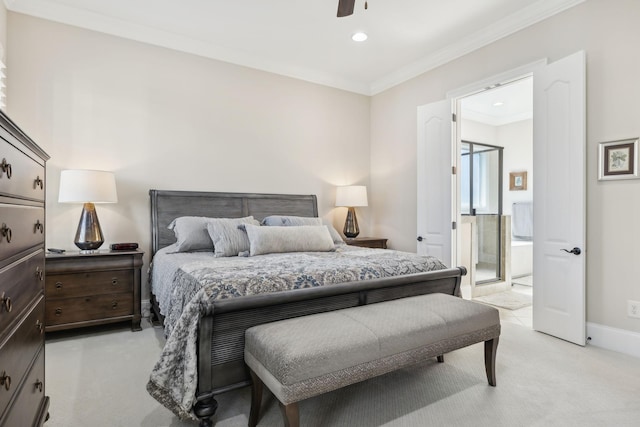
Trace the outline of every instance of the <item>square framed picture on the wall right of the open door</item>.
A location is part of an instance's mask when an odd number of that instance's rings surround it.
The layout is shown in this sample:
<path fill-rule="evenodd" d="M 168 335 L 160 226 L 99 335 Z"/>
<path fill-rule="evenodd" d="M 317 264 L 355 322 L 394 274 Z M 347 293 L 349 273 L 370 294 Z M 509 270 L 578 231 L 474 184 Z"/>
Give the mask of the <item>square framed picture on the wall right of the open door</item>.
<path fill-rule="evenodd" d="M 601 142 L 598 147 L 598 179 L 638 178 L 638 138 Z"/>

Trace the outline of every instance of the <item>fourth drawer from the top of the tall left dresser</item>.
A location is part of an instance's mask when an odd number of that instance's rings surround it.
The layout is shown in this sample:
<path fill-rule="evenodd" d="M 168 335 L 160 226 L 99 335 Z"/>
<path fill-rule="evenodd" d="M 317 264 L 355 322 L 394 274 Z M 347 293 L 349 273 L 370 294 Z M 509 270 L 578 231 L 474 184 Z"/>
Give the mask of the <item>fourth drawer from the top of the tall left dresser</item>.
<path fill-rule="evenodd" d="M 0 346 L 0 410 L 4 410 L 20 386 L 27 369 L 43 348 L 44 298 L 40 298 L 17 330 Z M 44 377 L 41 378 L 44 381 Z"/>

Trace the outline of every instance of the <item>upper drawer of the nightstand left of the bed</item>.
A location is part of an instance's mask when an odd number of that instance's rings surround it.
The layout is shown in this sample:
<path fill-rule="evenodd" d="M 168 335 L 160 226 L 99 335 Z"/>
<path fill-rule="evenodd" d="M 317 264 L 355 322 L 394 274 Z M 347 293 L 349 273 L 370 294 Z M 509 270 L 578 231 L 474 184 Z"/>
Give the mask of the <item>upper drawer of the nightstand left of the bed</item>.
<path fill-rule="evenodd" d="M 48 274 L 45 283 L 45 295 L 48 300 L 124 293 L 133 290 L 133 272 L 116 270 Z"/>

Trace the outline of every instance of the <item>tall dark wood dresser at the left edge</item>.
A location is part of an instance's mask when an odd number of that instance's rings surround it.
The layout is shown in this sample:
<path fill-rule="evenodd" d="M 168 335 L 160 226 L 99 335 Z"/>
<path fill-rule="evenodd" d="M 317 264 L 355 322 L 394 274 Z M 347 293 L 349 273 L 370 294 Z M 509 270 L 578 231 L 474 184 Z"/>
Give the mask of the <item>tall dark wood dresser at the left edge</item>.
<path fill-rule="evenodd" d="M 45 163 L 0 111 L 0 426 L 41 426 L 44 384 Z"/>

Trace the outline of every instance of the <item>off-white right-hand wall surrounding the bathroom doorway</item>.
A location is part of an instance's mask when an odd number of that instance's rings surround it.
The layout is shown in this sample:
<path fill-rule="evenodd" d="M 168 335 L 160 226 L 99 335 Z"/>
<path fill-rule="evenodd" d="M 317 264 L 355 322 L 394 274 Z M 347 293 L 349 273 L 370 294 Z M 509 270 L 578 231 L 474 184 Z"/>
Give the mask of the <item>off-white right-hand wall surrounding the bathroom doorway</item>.
<path fill-rule="evenodd" d="M 640 180 L 597 180 L 598 143 L 640 135 L 640 2 L 588 0 L 372 98 L 371 202 L 378 235 L 416 249 L 416 108 L 542 58 L 587 60 L 587 320 L 640 332 Z"/>

